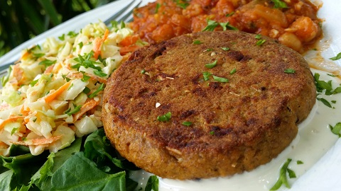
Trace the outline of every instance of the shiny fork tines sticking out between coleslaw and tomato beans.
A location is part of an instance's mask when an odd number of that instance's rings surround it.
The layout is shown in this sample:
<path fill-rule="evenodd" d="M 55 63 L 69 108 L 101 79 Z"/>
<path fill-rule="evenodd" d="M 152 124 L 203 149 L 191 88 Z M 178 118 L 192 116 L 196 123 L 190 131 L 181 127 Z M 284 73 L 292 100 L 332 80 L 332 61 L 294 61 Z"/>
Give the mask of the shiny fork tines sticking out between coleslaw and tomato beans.
<path fill-rule="evenodd" d="M 132 16 L 131 13 L 133 12 L 134 8 L 138 7 L 141 4 L 141 0 L 133 0 L 128 5 L 126 5 L 124 8 L 122 8 L 119 12 L 115 13 L 113 16 L 108 18 L 104 23 L 106 25 L 109 25 L 111 21 L 131 21 Z M 129 18 L 129 19 L 128 19 Z"/>

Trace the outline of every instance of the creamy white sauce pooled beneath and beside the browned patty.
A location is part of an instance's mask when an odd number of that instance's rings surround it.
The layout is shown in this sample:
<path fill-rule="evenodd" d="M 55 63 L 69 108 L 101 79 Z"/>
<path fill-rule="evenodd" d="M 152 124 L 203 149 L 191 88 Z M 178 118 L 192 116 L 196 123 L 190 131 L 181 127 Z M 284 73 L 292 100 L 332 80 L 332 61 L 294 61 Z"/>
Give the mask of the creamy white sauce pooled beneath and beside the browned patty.
<path fill-rule="evenodd" d="M 341 83 L 340 79 L 328 76 L 325 71 L 311 69 L 313 74 L 319 73 L 320 80 L 332 80 L 332 87 L 336 88 Z M 281 154 L 271 162 L 259 166 L 251 172 L 245 172 L 225 178 L 210 178 L 202 180 L 170 180 L 159 178 L 159 190 L 168 191 L 200 191 L 200 190 L 270 190 L 279 177 L 279 170 L 287 158 L 292 161 L 288 168 L 296 173 L 297 178 L 288 178 L 290 185 L 293 185 L 298 178 L 306 173 L 332 146 L 338 136 L 332 134 L 329 125 L 334 126 L 341 122 L 341 93 L 332 96 L 320 95 L 331 103 L 336 100 L 334 109 L 328 108 L 322 102 L 316 100 L 316 104 L 310 115 L 298 125 L 298 135 Z M 297 164 L 302 161 L 303 164 Z M 146 186 L 146 180 L 150 173 L 140 170 L 134 173 L 133 179 L 139 181 L 140 187 Z M 279 190 L 288 190 L 284 185 Z M 293 189 L 294 190 L 294 189 Z"/>

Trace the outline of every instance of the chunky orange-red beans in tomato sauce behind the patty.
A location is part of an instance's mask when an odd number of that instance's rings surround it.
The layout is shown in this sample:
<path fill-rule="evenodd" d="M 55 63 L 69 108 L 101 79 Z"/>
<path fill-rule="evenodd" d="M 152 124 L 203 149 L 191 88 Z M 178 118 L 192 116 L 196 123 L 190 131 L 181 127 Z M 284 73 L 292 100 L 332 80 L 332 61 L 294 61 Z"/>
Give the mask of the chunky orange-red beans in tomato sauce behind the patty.
<path fill-rule="evenodd" d="M 157 0 L 134 11 L 131 28 L 147 42 L 202 31 L 207 21 L 266 35 L 305 52 L 322 35 L 318 7 L 308 0 Z M 217 25 L 214 30 L 223 30 Z"/>

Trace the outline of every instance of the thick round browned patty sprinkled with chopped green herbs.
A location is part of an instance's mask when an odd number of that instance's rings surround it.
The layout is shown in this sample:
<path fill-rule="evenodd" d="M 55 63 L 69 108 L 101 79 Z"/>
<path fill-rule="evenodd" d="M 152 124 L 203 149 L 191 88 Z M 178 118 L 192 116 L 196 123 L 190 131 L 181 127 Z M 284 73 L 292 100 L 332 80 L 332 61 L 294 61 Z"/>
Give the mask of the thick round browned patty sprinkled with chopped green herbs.
<path fill-rule="evenodd" d="M 202 32 L 131 54 L 107 83 L 102 117 L 112 145 L 136 166 L 212 178 L 275 158 L 315 96 L 301 54 L 267 37 Z"/>

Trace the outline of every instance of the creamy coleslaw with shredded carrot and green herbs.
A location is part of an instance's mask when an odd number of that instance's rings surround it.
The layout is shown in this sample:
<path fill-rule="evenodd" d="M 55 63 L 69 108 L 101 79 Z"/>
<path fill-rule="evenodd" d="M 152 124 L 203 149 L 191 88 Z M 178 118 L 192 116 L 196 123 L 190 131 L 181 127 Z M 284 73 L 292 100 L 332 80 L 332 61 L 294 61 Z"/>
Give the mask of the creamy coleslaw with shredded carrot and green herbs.
<path fill-rule="evenodd" d="M 99 21 L 23 50 L 1 79 L 0 155 L 12 144 L 57 152 L 102 127 L 107 79 L 143 45 L 125 23 Z"/>

